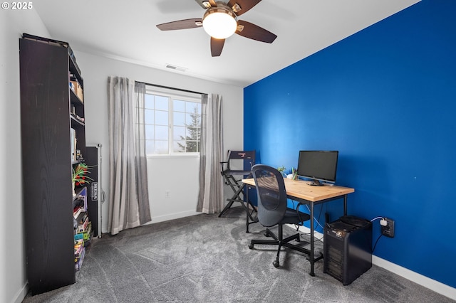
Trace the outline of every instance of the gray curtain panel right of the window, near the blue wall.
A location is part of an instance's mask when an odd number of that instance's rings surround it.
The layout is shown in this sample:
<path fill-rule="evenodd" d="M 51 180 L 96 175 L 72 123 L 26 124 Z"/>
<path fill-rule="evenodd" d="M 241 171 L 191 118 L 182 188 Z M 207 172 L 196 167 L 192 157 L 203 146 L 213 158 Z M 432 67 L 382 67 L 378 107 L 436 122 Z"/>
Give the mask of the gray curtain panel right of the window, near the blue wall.
<path fill-rule="evenodd" d="M 199 196 L 197 211 L 218 213 L 224 208 L 220 161 L 223 156 L 222 96 L 202 95 Z"/>

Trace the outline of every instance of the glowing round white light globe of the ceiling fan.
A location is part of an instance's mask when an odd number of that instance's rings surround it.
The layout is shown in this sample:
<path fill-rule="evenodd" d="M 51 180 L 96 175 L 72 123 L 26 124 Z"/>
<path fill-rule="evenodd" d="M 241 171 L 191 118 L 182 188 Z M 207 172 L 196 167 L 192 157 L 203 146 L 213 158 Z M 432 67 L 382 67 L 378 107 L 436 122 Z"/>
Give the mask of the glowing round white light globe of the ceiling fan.
<path fill-rule="evenodd" d="M 216 39 L 225 39 L 236 31 L 237 18 L 229 11 L 214 9 L 204 14 L 202 27 L 206 33 Z"/>

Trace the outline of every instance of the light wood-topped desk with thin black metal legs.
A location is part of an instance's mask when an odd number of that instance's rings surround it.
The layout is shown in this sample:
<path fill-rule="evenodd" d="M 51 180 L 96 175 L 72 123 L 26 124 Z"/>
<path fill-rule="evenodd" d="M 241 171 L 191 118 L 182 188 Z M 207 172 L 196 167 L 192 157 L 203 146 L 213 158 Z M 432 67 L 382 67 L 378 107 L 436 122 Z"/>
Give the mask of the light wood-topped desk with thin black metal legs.
<path fill-rule="evenodd" d="M 348 193 L 354 193 L 354 188 L 348 188 L 343 186 L 311 186 L 307 184 L 307 181 L 284 179 L 286 196 L 294 201 L 298 201 L 301 204 L 306 204 L 310 209 L 311 216 L 311 249 L 309 255 L 309 261 L 311 262 L 311 276 L 315 276 L 314 264 L 316 261 L 323 258 L 323 255 L 314 257 L 314 206 L 321 203 L 337 200 L 343 198 L 343 215 L 347 214 L 347 195 Z M 254 179 L 242 179 L 242 183 L 247 186 L 255 186 Z M 247 191 L 248 194 L 249 191 Z M 248 197 L 247 197 L 248 198 Z M 249 220 L 247 216 L 247 221 Z M 248 224 L 247 224 L 248 226 Z M 249 231 L 247 230 L 247 233 Z"/>

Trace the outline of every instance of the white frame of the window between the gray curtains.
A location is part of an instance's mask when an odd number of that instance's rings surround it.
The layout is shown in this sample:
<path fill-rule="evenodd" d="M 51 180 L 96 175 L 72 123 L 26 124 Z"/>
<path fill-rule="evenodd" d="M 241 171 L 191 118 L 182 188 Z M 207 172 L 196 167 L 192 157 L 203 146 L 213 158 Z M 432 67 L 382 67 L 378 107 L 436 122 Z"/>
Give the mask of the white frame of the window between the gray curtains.
<path fill-rule="evenodd" d="M 202 108 L 201 108 L 201 103 L 202 103 L 202 94 L 199 94 L 197 92 L 187 92 L 187 91 L 182 91 L 182 90 L 177 90 L 177 89 L 172 89 L 172 88 L 165 88 L 165 87 L 155 87 L 153 85 L 146 85 L 146 90 L 145 90 L 146 95 L 157 95 L 160 97 L 167 97 L 168 99 L 168 138 L 167 138 L 167 145 L 168 145 L 168 150 L 166 154 L 147 154 L 146 151 L 146 156 L 147 157 L 163 157 L 163 156 L 199 156 L 199 151 L 175 151 L 174 150 L 174 133 L 175 133 L 175 125 L 174 125 L 174 105 L 173 105 L 173 100 L 179 100 L 179 101 L 185 101 L 185 102 L 193 102 L 193 103 L 198 103 L 199 104 L 199 117 L 202 117 Z M 147 107 L 144 108 L 144 110 Z M 155 110 L 155 109 L 154 109 Z M 185 112 L 187 114 L 187 112 Z M 154 124 L 156 125 L 155 121 Z M 201 119 L 199 120 L 199 129 L 201 129 Z M 199 138 L 201 139 L 201 138 Z M 145 139 L 147 141 L 147 139 Z M 153 139 L 155 141 L 155 139 Z M 201 140 L 199 140 L 199 147 L 201 146 Z"/>

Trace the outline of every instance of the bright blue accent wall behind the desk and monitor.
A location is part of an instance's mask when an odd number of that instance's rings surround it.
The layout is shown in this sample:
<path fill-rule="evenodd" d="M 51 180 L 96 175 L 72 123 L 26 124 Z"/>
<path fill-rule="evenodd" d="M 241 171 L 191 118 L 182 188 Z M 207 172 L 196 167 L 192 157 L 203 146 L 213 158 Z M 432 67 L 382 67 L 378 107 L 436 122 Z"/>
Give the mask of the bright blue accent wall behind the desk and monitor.
<path fill-rule="evenodd" d="M 423 0 L 244 89 L 244 149 L 338 150 L 348 213 L 395 220 L 374 255 L 456 287 L 456 1 Z M 342 201 L 316 209 L 334 220 Z M 320 228 L 321 230 L 321 228 Z M 380 235 L 374 223 L 374 242 Z"/>

